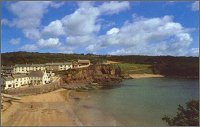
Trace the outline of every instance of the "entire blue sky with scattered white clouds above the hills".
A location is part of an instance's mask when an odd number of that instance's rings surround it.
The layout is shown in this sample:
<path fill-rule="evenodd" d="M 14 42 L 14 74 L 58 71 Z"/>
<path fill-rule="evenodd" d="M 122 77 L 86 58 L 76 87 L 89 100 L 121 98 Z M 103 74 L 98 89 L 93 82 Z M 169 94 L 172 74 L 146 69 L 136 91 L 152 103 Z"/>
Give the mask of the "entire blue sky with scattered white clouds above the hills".
<path fill-rule="evenodd" d="M 1 52 L 199 56 L 199 2 L 2 2 Z"/>

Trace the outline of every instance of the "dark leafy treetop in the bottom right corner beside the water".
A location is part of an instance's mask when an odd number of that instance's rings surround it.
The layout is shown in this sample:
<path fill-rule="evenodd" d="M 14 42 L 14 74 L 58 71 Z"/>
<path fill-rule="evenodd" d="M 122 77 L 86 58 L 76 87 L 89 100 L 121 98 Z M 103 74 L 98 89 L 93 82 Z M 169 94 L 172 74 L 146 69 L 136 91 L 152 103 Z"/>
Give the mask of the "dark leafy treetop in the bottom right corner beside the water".
<path fill-rule="evenodd" d="M 162 120 L 170 126 L 199 126 L 199 101 L 187 102 L 186 109 L 178 105 L 178 112 L 174 118 L 165 115 Z"/>

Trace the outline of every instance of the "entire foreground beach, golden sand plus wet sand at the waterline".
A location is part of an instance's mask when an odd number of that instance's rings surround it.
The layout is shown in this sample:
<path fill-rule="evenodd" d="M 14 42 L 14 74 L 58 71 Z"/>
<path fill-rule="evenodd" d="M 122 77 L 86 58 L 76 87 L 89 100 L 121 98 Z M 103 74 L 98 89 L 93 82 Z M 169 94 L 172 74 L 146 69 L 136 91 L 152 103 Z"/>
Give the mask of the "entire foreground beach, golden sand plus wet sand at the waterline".
<path fill-rule="evenodd" d="M 59 89 L 21 97 L 1 112 L 3 126 L 119 125 L 112 117 L 90 106 L 87 92 Z"/>

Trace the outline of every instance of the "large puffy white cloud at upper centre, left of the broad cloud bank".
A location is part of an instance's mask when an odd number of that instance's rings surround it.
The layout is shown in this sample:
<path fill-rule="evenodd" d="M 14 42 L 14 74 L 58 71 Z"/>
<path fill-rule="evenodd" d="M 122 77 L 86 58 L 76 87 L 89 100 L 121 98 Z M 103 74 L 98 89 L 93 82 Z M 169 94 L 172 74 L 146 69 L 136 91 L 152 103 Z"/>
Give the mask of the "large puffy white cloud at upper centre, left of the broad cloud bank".
<path fill-rule="evenodd" d="M 89 5 L 85 8 L 85 6 L 61 20 L 67 35 L 84 36 L 100 30 L 100 25 L 96 24 L 97 16 L 99 16 L 98 9 Z"/>

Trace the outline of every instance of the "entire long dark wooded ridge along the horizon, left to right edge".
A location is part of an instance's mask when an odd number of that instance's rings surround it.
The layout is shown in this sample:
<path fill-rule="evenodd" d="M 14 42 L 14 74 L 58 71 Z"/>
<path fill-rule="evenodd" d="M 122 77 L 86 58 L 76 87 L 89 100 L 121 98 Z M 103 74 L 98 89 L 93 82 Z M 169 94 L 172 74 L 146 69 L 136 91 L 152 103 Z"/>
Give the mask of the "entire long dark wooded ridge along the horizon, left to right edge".
<path fill-rule="evenodd" d="M 38 53 L 38 52 L 10 52 L 1 54 L 2 65 L 14 65 L 24 63 L 66 62 L 77 59 L 89 59 L 92 63 L 105 60 L 119 61 L 123 63 L 149 64 L 156 74 L 173 77 L 199 77 L 199 57 L 173 57 L 173 56 L 106 56 L 94 54 L 62 54 L 62 53 Z"/>

